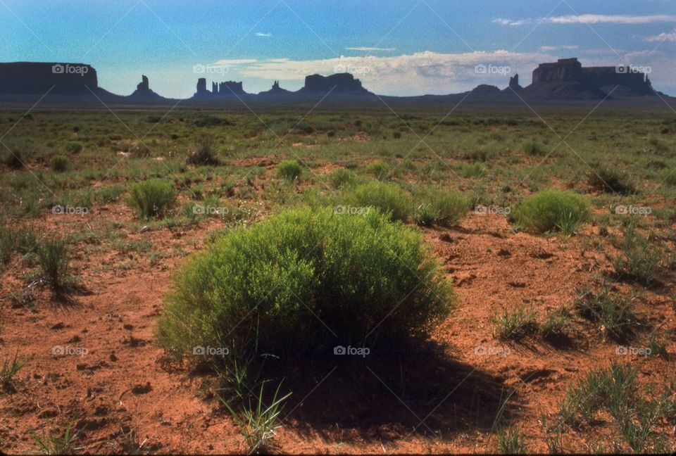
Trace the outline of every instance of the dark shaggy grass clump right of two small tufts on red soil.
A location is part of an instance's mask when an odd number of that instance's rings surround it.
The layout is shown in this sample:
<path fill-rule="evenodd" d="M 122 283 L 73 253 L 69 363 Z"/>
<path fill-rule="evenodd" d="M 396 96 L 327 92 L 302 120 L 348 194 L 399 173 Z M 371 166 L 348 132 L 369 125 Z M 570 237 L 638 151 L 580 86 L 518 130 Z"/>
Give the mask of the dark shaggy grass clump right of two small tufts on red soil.
<path fill-rule="evenodd" d="M 604 336 L 623 341 L 632 334 L 636 322 L 634 299 L 613 292 L 606 284 L 601 284 L 596 292 L 582 290 L 574 306 L 580 316 L 598 323 Z"/>

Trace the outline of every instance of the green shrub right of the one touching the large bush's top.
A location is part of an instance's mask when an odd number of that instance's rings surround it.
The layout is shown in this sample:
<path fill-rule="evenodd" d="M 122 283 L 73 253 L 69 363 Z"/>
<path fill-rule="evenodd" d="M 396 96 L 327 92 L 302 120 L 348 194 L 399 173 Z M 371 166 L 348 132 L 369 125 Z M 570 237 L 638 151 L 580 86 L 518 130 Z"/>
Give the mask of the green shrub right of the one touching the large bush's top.
<path fill-rule="evenodd" d="M 422 203 L 415 210 L 414 218 L 421 226 L 453 226 L 470 210 L 469 198 L 452 189 L 441 187 L 430 187 L 420 192 L 418 201 Z"/>

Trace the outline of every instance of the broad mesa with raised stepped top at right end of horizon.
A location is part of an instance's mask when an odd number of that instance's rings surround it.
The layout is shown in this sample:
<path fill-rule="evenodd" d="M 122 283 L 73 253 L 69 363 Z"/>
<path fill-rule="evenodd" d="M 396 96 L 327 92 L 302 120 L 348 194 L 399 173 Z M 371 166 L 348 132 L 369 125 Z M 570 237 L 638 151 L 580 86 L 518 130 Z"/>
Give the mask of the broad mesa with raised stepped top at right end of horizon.
<path fill-rule="evenodd" d="M 525 91 L 539 99 L 585 100 L 611 96 L 655 96 L 648 77 L 629 67 L 582 68 L 577 58 L 542 63 Z"/>

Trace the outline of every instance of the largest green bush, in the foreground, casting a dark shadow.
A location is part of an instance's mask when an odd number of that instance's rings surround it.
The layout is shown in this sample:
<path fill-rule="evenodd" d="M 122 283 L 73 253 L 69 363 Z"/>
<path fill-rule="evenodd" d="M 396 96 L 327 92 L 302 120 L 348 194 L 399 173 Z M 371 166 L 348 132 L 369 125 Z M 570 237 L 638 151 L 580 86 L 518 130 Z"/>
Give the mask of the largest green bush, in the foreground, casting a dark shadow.
<path fill-rule="evenodd" d="M 224 344 L 236 357 L 254 345 L 299 355 L 391 344 L 425 334 L 453 303 L 422 235 L 376 210 L 287 210 L 232 229 L 173 280 L 157 336 L 180 354 Z"/>

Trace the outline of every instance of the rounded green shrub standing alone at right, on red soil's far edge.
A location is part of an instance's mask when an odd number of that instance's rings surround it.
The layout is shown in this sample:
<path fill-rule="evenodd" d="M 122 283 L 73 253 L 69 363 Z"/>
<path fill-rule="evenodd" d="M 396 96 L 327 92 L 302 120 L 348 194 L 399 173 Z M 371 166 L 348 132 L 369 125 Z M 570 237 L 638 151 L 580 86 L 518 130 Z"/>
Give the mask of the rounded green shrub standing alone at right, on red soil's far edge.
<path fill-rule="evenodd" d="M 553 230 L 572 233 L 590 216 L 589 203 L 583 196 L 554 189 L 527 198 L 515 208 L 513 214 L 518 224 L 537 233 Z"/>

